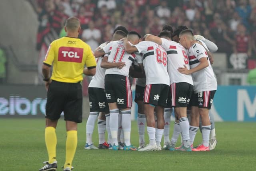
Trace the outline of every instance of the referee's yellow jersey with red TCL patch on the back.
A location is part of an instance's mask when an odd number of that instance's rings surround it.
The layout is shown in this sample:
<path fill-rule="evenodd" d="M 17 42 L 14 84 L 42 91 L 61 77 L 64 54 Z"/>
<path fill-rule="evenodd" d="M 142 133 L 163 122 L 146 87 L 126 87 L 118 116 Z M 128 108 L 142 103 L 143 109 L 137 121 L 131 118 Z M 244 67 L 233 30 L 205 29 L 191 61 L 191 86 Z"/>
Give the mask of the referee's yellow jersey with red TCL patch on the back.
<path fill-rule="evenodd" d="M 54 40 L 46 53 L 44 64 L 52 66 L 52 80 L 76 83 L 83 80 L 84 65 L 95 67 L 96 60 L 88 44 L 79 38 L 63 37 Z"/>

